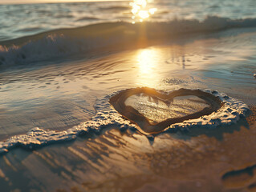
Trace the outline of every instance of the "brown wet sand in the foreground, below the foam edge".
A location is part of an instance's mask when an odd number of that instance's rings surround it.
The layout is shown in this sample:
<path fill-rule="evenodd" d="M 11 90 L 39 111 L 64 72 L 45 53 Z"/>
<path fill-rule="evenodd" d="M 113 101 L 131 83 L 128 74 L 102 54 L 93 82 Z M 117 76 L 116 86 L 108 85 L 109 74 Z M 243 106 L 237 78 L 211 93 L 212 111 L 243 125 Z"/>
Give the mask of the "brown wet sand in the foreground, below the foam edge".
<path fill-rule="evenodd" d="M 112 127 L 32 152 L 12 150 L 0 161 L 1 186 L 39 191 L 253 191 L 256 126 L 244 124 L 160 134 L 154 141 Z"/>

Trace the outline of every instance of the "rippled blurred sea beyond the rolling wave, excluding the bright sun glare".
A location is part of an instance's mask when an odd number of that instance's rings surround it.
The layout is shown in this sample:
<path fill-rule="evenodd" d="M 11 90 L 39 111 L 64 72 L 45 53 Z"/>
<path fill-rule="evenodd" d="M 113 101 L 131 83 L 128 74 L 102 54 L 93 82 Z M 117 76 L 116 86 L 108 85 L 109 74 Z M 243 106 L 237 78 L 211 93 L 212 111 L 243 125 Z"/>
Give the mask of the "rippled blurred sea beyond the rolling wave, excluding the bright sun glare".
<path fill-rule="evenodd" d="M 102 22 L 132 22 L 132 1 L 67 2 L 0 6 L 0 40 L 20 38 L 47 30 L 75 28 Z M 144 2 L 144 1 L 138 1 Z M 146 2 L 146 1 L 145 1 Z M 208 16 L 230 19 L 255 18 L 254 0 L 238 1 L 149 1 L 145 10 L 157 9 L 147 20 L 168 22 Z M 136 17 L 140 20 L 140 17 Z"/>

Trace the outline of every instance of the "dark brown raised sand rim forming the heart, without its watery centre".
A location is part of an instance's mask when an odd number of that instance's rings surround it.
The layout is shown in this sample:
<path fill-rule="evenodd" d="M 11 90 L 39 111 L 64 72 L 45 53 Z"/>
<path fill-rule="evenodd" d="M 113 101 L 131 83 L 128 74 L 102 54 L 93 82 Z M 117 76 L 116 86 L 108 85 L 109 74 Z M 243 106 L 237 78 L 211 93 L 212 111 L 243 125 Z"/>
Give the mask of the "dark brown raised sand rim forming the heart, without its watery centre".
<path fill-rule="evenodd" d="M 198 98 L 203 99 L 209 106 L 197 111 L 196 113 L 188 114 L 183 117 L 168 118 L 162 122 L 151 123 L 150 120 L 143 114 L 140 114 L 138 110 L 134 109 L 132 106 L 125 105 L 126 99 L 134 94 L 147 94 L 151 97 L 160 98 L 164 102 L 170 101 L 178 96 L 195 95 Z M 139 130 L 142 134 L 159 134 L 165 130 L 166 127 L 172 124 L 212 114 L 223 106 L 221 99 L 213 94 L 209 94 L 202 90 L 189 90 L 184 88 L 181 88 L 180 90 L 173 90 L 169 93 L 148 87 L 132 88 L 120 91 L 118 94 L 112 96 L 112 98 L 109 99 L 109 102 L 119 114 L 128 119 L 130 122 L 136 124 L 137 130 Z"/>

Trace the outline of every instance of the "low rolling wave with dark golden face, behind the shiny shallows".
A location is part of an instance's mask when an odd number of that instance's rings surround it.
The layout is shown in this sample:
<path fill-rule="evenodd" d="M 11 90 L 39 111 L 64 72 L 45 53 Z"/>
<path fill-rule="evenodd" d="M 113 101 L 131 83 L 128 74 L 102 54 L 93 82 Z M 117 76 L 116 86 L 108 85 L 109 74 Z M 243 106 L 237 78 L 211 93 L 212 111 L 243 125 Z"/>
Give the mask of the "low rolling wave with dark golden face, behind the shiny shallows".
<path fill-rule="evenodd" d="M 232 28 L 256 27 L 256 18 L 236 19 L 208 17 L 172 22 L 108 22 L 74 29 L 51 30 L 10 41 L 0 42 L 0 65 L 22 65 L 91 50 L 140 46 L 151 40 L 185 38 L 185 34 L 205 34 Z"/>

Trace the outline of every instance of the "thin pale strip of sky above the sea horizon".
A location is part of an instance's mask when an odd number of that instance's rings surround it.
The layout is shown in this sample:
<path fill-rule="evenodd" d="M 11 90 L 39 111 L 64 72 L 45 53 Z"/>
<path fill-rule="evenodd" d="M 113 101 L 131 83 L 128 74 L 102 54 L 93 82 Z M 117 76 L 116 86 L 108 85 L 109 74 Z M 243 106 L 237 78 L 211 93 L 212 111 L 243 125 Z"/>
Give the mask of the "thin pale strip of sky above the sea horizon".
<path fill-rule="evenodd" d="M 120 0 L 0 0 L 0 4 L 25 4 L 43 2 L 110 2 Z"/>

